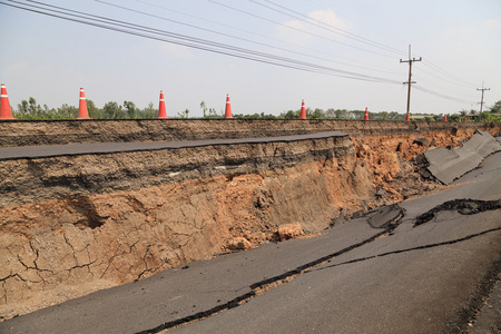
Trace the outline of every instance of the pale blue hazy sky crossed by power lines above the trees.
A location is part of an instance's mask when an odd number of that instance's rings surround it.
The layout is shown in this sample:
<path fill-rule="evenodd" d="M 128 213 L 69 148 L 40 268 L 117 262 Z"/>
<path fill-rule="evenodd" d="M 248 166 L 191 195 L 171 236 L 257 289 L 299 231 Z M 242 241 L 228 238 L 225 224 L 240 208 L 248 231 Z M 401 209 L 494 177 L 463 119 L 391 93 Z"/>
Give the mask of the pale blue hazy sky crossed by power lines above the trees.
<path fill-rule="evenodd" d="M 163 90 L 170 117 L 227 94 L 233 114 L 404 114 L 410 45 L 411 114 L 479 110 L 482 82 L 484 109 L 501 100 L 500 0 L 0 0 L 0 22 L 13 108 L 78 106 L 82 87 L 97 107 Z"/>

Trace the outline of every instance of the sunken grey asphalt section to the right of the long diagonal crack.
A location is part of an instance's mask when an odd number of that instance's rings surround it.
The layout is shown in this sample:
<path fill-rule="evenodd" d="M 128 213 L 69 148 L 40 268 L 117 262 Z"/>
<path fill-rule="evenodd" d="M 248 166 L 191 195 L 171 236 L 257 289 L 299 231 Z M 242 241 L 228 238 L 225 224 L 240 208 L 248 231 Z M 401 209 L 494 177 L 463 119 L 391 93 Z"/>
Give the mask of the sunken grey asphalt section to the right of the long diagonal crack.
<path fill-rule="evenodd" d="M 464 326 L 475 288 L 501 252 L 501 209 L 440 212 L 455 198 L 501 198 L 501 154 L 456 180 L 458 187 L 401 204 L 391 236 L 314 267 L 296 279 L 173 333 L 444 333 Z M 464 181 L 473 181 L 461 185 Z M 350 223 L 348 223 L 350 224 Z M 335 234 L 335 228 L 330 232 Z"/>

